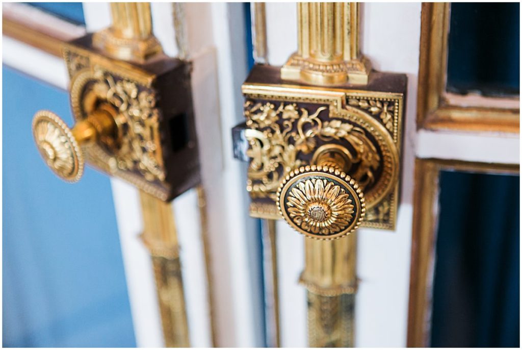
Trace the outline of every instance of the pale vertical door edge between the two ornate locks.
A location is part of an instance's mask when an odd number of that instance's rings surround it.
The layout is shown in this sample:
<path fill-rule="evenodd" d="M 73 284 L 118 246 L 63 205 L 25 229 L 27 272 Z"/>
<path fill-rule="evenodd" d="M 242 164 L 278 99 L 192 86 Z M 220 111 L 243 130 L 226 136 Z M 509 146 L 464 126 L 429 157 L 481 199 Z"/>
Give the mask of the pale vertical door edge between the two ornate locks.
<path fill-rule="evenodd" d="M 217 94 L 219 99 L 207 104 L 214 103 L 217 108 L 212 114 L 198 112 L 196 118 L 211 228 L 217 345 L 261 346 L 263 328 L 259 320 L 263 298 L 256 278 L 261 271 L 256 247 L 258 228 L 256 221 L 248 217 L 246 165 L 233 158 L 231 140 L 232 127 L 243 121 L 241 84 L 248 73 L 242 4 L 187 4 L 186 7 L 191 26 L 189 37 L 208 43 L 195 47 L 198 51 L 215 53 L 216 85 L 211 87 L 215 92 L 210 96 Z M 207 98 L 204 89 L 198 86 L 195 95 Z M 216 121 L 219 125 L 213 129 Z"/>

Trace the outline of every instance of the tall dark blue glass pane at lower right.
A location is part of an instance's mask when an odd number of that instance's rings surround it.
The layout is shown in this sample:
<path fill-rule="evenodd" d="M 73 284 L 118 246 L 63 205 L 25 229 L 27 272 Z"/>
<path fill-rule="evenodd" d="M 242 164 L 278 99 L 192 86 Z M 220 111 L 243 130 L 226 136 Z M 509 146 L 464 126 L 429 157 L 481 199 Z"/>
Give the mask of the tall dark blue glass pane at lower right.
<path fill-rule="evenodd" d="M 432 346 L 519 346 L 519 179 L 442 172 Z"/>

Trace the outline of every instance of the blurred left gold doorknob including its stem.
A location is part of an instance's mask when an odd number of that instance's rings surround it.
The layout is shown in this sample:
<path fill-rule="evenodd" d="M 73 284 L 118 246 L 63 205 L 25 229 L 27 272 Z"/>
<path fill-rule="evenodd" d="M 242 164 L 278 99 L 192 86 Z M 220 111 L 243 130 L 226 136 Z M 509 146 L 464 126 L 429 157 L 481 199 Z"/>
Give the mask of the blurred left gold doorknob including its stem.
<path fill-rule="evenodd" d="M 81 145 L 100 141 L 115 142 L 116 122 L 110 107 L 102 106 L 88 114 L 72 129 L 56 114 L 38 111 L 34 114 L 32 130 L 34 141 L 46 164 L 54 173 L 68 182 L 78 181 L 84 172 Z"/>

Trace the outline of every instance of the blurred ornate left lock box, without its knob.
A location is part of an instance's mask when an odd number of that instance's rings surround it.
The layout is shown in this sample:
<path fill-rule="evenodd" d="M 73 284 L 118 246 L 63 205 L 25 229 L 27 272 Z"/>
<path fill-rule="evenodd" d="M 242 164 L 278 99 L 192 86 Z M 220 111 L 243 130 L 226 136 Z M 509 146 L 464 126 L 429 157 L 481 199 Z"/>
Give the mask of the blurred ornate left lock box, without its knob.
<path fill-rule="evenodd" d="M 116 109 L 118 135 L 83 146 L 90 165 L 164 201 L 199 183 L 189 63 L 162 53 L 141 64 L 113 59 L 92 34 L 63 54 L 75 120 L 102 102 Z"/>

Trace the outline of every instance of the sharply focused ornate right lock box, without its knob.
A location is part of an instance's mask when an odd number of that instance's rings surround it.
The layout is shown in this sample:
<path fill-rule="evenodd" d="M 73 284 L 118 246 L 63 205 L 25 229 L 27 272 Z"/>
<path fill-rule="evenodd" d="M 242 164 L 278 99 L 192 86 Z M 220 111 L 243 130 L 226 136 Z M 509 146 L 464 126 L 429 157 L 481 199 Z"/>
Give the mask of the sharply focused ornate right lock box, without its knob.
<path fill-rule="evenodd" d="M 281 80 L 279 72 L 255 66 L 242 87 L 250 214 L 281 218 L 281 181 L 337 145 L 365 188 L 361 226 L 394 229 L 406 76 L 373 72 L 364 86 L 316 87 Z"/>

